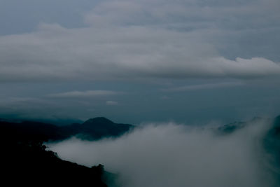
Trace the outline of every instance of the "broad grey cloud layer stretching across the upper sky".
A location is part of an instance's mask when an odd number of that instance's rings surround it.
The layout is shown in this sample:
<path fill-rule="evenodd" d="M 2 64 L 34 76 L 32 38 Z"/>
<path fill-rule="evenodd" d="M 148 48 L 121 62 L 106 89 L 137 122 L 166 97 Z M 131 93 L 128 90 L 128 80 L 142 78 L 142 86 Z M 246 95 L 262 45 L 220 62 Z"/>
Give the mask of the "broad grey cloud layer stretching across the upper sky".
<path fill-rule="evenodd" d="M 85 13 L 88 27 L 1 36 L 0 81 L 279 76 L 279 62 L 229 60 L 217 49 L 227 34 L 273 29 L 277 2 L 102 1 Z"/>

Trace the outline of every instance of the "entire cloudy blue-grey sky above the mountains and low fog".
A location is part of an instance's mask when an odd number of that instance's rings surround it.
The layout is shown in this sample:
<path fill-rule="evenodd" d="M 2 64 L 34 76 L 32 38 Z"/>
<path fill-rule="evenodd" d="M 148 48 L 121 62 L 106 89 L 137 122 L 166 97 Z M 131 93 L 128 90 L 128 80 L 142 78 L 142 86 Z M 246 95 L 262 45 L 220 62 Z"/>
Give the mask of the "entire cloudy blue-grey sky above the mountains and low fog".
<path fill-rule="evenodd" d="M 0 0 L 0 117 L 280 114 L 278 0 Z"/>

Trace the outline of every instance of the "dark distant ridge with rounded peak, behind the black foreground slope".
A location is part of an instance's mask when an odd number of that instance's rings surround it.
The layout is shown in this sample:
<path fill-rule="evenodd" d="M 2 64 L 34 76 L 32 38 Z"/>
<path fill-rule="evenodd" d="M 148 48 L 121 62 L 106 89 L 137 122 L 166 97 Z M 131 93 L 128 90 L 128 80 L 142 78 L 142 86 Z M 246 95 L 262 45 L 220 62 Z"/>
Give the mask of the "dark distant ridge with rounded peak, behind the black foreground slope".
<path fill-rule="evenodd" d="M 36 141 L 56 141 L 77 136 L 82 139 L 101 139 L 102 137 L 118 137 L 134 128 L 134 125 L 113 123 L 111 120 L 99 117 L 86 120 L 84 123 L 71 125 L 52 125 L 34 121 L 12 123 L 0 121 L 1 132 L 9 137 L 31 139 Z"/>

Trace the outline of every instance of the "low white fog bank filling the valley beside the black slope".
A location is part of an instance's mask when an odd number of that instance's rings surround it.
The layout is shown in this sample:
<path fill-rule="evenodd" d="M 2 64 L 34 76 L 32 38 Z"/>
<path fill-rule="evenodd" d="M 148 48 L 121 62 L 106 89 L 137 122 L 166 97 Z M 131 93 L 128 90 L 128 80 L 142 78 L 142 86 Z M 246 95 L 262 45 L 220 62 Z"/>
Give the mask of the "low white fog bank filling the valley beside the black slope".
<path fill-rule="evenodd" d="M 269 126 L 254 123 L 227 136 L 208 128 L 148 125 L 118 139 L 49 144 L 60 158 L 120 174 L 128 187 L 272 186 L 261 138 Z"/>

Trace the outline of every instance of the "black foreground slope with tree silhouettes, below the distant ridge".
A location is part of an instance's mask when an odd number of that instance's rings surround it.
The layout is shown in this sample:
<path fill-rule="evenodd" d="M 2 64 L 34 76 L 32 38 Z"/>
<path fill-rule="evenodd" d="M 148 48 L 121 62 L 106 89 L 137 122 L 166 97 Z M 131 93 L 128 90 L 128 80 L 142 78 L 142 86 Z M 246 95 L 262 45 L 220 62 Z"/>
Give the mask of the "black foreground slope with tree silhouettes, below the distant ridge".
<path fill-rule="evenodd" d="M 89 168 L 61 160 L 36 142 L 21 141 L 1 147 L 1 177 L 4 181 L 9 180 L 9 186 L 16 183 L 21 186 L 53 186 L 57 183 L 106 186 L 102 181 L 102 166 Z"/>

